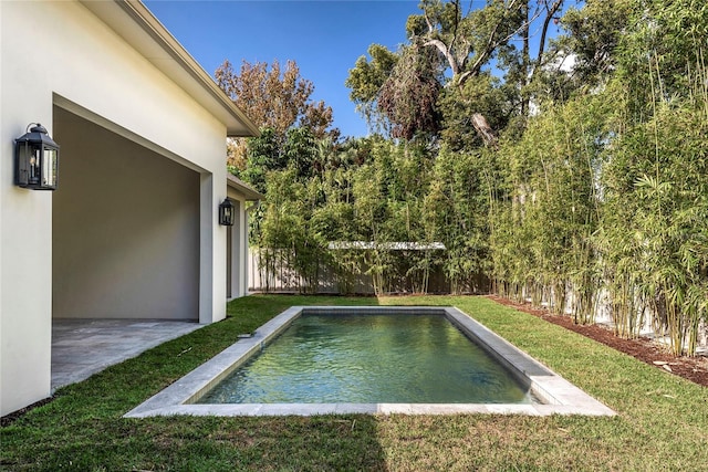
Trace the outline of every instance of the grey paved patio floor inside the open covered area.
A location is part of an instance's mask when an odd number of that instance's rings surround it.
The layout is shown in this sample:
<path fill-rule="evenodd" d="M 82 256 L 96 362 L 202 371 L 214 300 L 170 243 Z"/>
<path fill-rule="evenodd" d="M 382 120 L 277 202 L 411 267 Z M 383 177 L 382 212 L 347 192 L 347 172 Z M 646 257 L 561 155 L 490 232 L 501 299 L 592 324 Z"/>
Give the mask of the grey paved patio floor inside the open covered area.
<path fill-rule="evenodd" d="M 200 328 L 164 319 L 52 321 L 52 392 Z"/>

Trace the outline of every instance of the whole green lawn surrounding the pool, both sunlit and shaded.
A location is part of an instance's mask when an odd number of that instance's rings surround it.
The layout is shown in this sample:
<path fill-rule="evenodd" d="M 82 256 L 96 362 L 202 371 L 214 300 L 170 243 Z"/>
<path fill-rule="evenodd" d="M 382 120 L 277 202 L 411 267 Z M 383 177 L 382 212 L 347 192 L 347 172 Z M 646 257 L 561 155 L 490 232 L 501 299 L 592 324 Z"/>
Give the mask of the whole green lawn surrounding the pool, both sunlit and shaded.
<path fill-rule="evenodd" d="M 291 305 L 455 305 L 617 411 L 614 418 L 123 419 Z M 229 317 L 58 391 L 0 430 L 0 470 L 706 470 L 708 388 L 481 297 L 233 301 Z"/>

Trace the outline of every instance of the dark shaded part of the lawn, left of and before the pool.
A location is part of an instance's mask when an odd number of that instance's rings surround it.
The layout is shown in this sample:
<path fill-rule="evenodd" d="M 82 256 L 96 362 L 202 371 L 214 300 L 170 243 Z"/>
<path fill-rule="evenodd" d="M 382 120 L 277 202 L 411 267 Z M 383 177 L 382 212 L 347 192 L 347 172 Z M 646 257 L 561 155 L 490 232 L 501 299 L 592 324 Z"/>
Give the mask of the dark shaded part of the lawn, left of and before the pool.
<path fill-rule="evenodd" d="M 291 305 L 373 305 L 375 297 L 258 295 L 227 319 L 58 391 L 0 429 L 8 470 L 385 470 L 376 418 L 150 418 L 122 415 Z"/>

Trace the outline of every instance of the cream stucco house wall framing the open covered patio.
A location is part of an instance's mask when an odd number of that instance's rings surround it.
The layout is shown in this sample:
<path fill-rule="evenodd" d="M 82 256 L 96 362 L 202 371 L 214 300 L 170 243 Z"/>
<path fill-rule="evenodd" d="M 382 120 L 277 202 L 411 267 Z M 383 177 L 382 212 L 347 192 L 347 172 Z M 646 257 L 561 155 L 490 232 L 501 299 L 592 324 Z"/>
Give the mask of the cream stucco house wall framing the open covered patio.
<path fill-rule="evenodd" d="M 116 11 L 116 21 L 134 21 Z M 226 229 L 216 211 L 226 197 L 226 125 L 79 2 L 0 2 L 0 413 L 6 415 L 49 396 L 51 376 L 54 196 L 13 185 L 13 139 L 35 122 L 54 136 L 56 105 L 197 172 L 199 322 L 212 323 L 226 316 Z"/>

